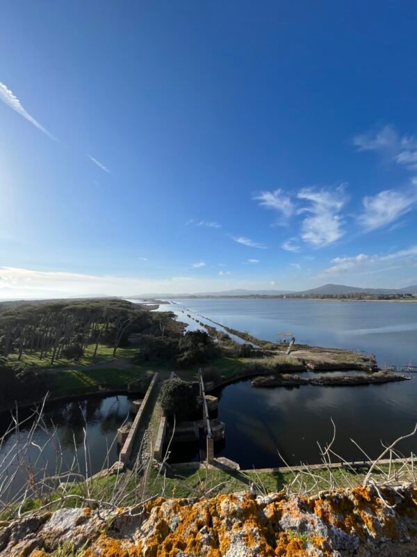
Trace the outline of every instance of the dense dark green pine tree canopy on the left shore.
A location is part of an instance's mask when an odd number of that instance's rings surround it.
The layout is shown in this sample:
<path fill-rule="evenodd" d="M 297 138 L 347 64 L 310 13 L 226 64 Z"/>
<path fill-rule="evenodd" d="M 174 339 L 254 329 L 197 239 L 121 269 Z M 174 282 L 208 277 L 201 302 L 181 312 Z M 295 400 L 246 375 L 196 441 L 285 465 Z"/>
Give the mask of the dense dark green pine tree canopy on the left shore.
<path fill-rule="evenodd" d="M 20 361 L 24 353 L 35 354 L 52 366 L 61 357 L 79 359 L 88 345 L 94 345 L 95 359 L 104 343 L 115 356 L 132 331 L 163 336 L 172 317 L 122 299 L 0 305 L 0 355 L 17 354 Z"/>

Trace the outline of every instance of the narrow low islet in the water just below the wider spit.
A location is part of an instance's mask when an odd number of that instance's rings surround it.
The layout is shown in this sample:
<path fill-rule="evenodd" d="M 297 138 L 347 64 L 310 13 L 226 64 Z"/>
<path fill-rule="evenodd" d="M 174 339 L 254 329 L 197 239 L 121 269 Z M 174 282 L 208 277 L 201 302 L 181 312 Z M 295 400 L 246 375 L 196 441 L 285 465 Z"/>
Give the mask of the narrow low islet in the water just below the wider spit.
<path fill-rule="evenodd" d="M 409 377 L 398 375 L 398 373 L 379 371 L 368 373 L 368 375 L 338 375 L 335 377 L 300 377 L 281 373 L 279 375 L 268 375 L 255 377 L 252 387 L 279 387 L 279 386 L 356 386 L 356 385 L 375 385 L 382 383 L 392 383 L 397 381 L 407 381 Z"/>

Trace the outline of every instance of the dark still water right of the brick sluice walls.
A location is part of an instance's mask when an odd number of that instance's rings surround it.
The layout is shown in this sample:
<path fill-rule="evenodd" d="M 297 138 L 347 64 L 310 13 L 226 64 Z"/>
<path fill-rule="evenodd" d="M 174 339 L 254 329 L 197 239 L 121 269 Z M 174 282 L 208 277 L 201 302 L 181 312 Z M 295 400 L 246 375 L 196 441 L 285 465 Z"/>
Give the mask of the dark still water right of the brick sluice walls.
<path fill-rule="evenodd" d="M 224 387 L 219 419 L 226 423 L 226 444 L 218 456 L 236 460 L 243 468 L 320 462 L 318 444 L 332 439 L 336 453 L 363 457 L 353 438 L 371 457 L 417 421 L 417 382 L 355 387 L 300 386 L 253 389 L 250 381 Z M 417 439 L 400 446 L 409 455 Z M 279 454 L 283 457 L 279 457 Z"/>

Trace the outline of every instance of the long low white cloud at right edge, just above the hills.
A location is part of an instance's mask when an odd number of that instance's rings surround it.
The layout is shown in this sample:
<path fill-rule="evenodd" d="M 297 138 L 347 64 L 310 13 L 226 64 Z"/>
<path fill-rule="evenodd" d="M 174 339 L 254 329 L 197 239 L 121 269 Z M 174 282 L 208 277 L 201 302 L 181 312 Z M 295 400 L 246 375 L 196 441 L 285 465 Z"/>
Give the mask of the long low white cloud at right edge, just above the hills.
<path fill-rule="evenodd" d="M 369 269 L 371 266 L 377 266 L 381 263 L 393 262 L 395 260 L 406 260 L 412 258 L 414 261 L 417 256 L 417 246 L 411 246 L 408 249 L 394 251 L 385 254 L 375 254 L 368 256 L 366 253 L 359 253 L 352 257 L 336 257 L 331 260 L 332 267 L 325 269 L 321 274 L 323 276 L 329 274 L 344 274 L 347 272 L 360 272 Z M 415 260 L 417 262 L 417 260 Z"/>

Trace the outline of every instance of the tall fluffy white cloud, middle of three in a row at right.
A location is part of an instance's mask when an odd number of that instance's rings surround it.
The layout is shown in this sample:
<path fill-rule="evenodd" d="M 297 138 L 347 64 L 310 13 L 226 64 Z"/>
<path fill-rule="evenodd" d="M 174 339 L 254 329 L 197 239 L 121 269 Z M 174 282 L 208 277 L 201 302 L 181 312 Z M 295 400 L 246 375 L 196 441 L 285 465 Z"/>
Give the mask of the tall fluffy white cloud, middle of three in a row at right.
<path fill-rule="evenodd" d="M 297 211 L 297 214 L 309 213 L 302 222 L 304 242 L 318 248 L 328 246 L 344 235 L 344 221 L 339 214 L 346 201 L 344 185 L 333 190 L 304 188 L 297 198 L 310 202 L 308 207 Z"/>

